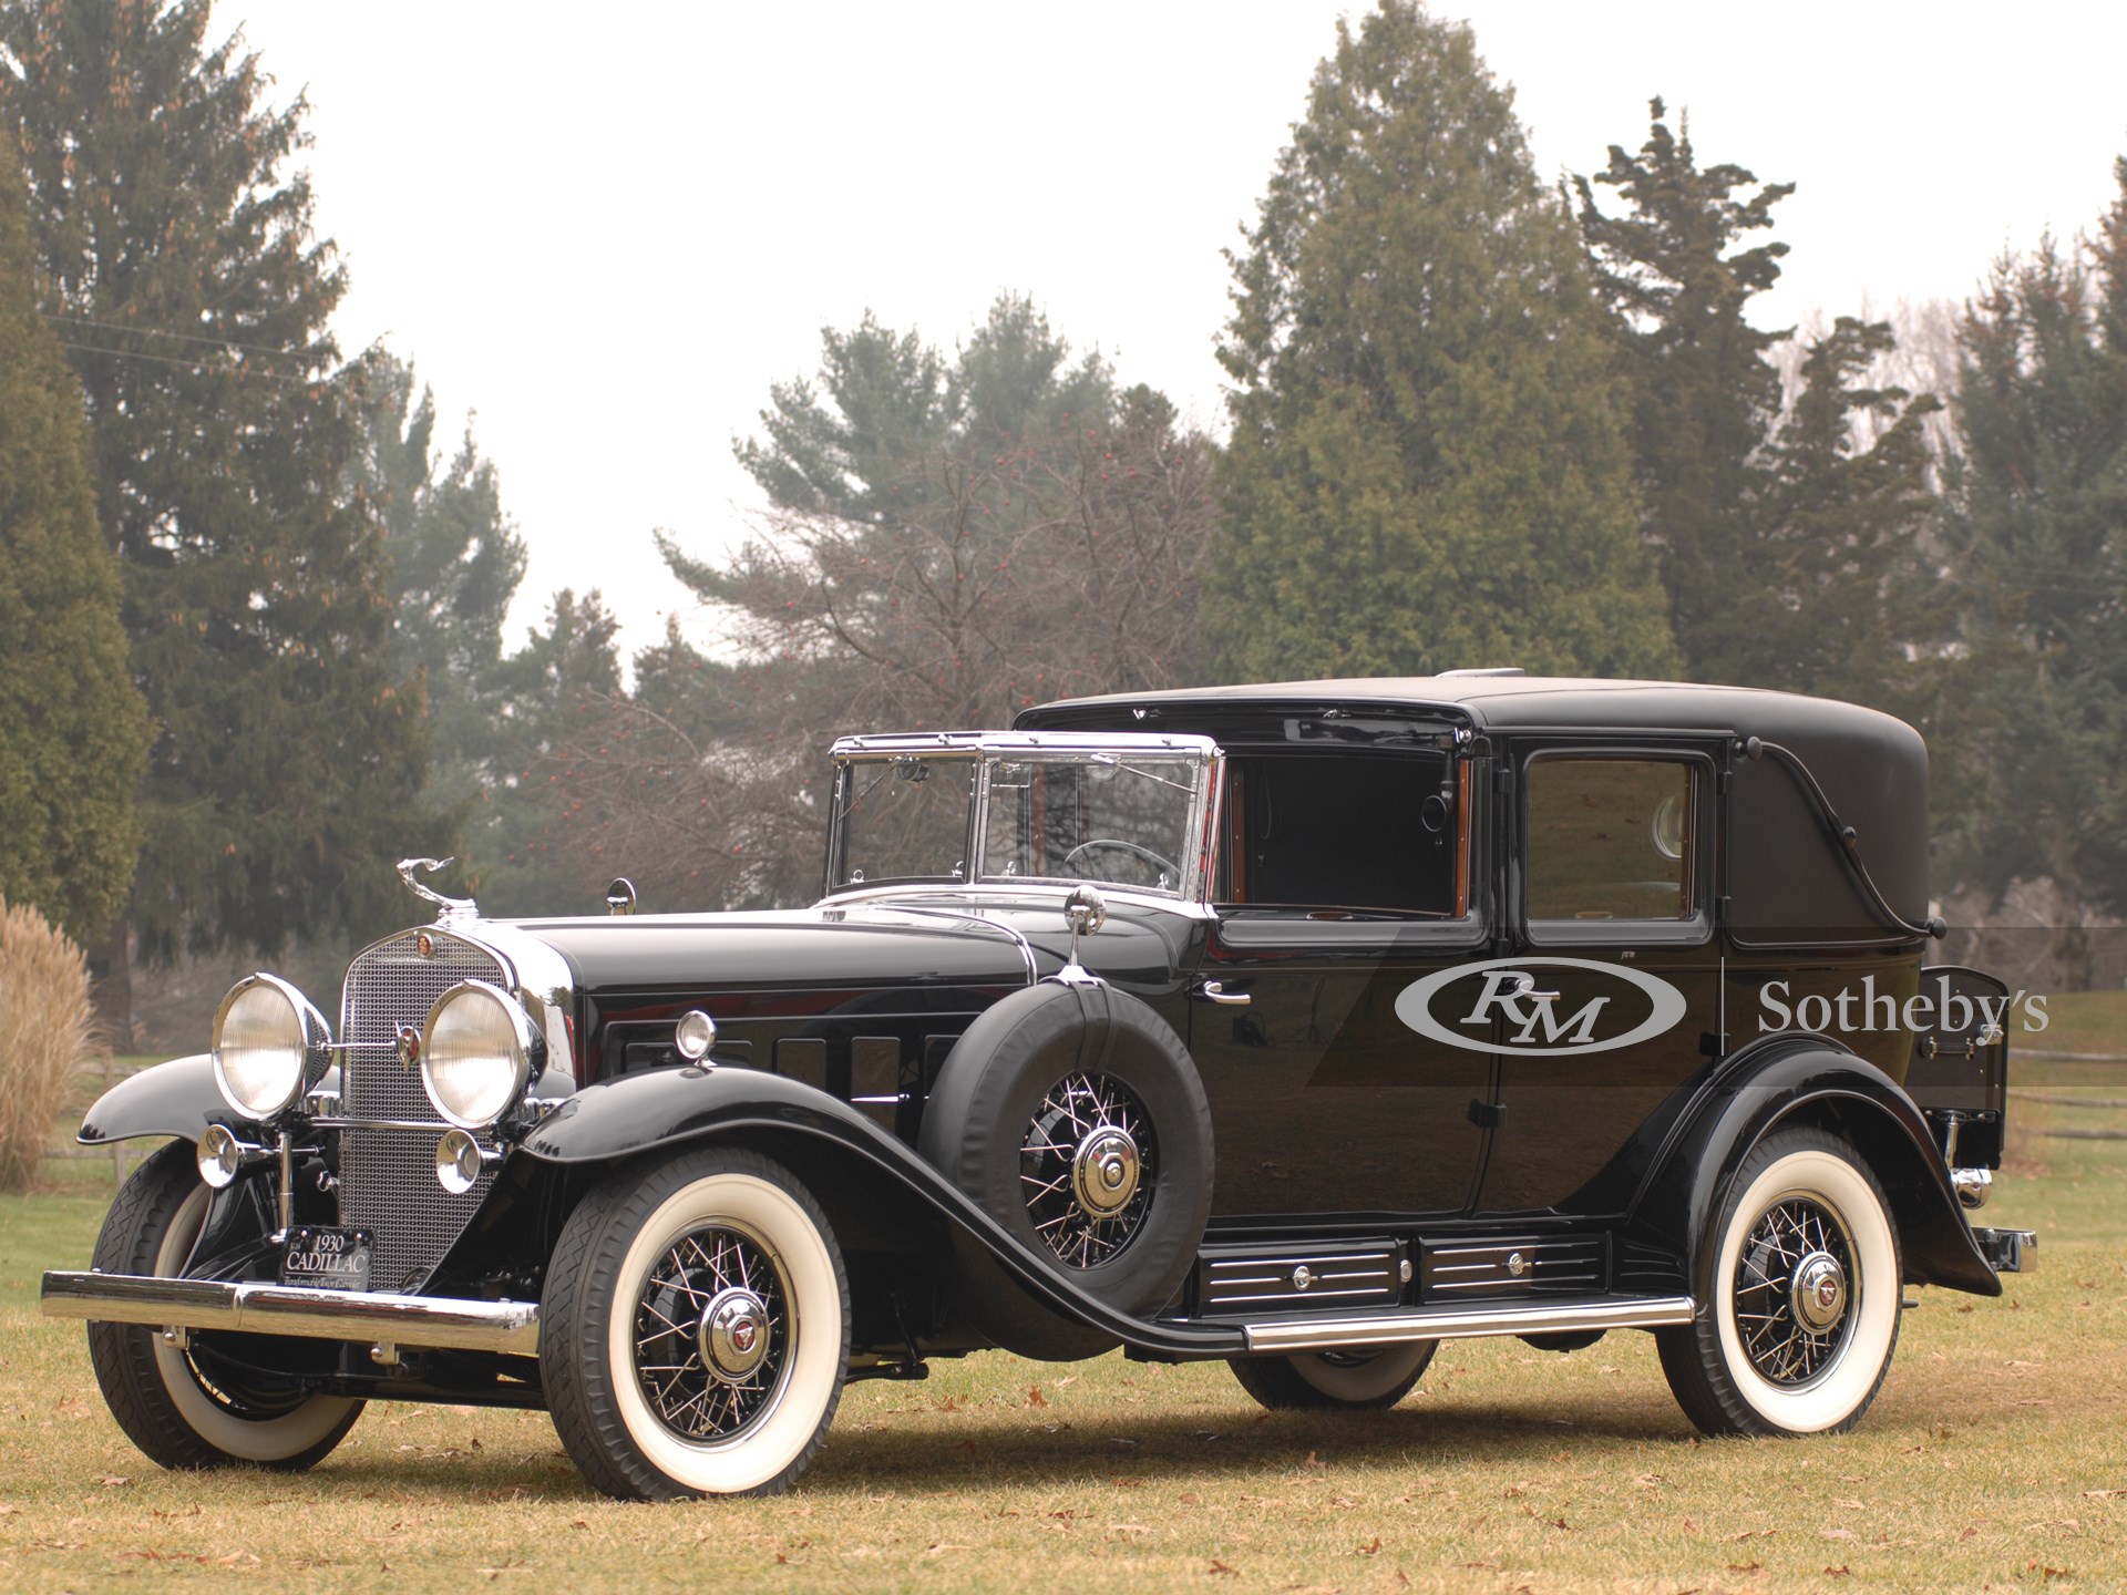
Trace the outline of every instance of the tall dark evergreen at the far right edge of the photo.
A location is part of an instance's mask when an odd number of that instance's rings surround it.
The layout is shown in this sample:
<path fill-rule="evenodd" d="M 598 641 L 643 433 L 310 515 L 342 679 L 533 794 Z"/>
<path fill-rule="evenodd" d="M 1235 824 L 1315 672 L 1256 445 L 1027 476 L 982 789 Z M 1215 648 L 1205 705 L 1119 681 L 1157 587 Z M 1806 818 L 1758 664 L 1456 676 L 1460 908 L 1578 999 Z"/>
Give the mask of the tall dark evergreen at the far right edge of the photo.
<path fill-rule="evenodd" d="M 2004 257 L 1967 306 L 1944 566 L 1984 783 L 1953 878 L 2050 876 L 2127 912 L 2127 160 L 2093 236 Z"/>

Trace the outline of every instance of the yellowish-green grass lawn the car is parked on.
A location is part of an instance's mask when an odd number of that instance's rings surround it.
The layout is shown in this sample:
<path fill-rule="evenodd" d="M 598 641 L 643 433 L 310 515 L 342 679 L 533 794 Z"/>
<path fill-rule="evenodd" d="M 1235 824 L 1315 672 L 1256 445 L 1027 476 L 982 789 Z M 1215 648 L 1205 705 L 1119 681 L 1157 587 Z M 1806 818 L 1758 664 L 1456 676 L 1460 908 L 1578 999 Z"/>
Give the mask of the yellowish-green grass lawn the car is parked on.
<path fill-rule="evenodd" d="M 2112 995 L 2065 1000 L 2112 1004 Z M 2127 1006 L 2076 1014 L 2127 1053 Z M 2084 1023 L 2087 1021 L 2087 1023 Z M 2061 1021 L 2057 1021 L 2061 1023 Z M 2063 1023 L 2063 1031 L 2070 1027 Z M 1000 1353 L 855 1384 L 772 1501 L 619 1506 L 540 1414 L 372 1406 L 306 1476 L 164 1474 L 83 1333 L 111 1165 L 0 1197 L 0 1586 L 2106 1591 L 2127 1584 L 2127 1065 L 2016 1063 L 1989 1223 L 2044 1231 L 1999 1302 L 1916 1291 L 1850 1435 L 1699 1442 L 1653 1340 L 1442 1348 L 1395 1412 L 1270 1416 L 1221 1365 Z M 2050 1097 L 2076 1097 L 2063 1106 Z"/>

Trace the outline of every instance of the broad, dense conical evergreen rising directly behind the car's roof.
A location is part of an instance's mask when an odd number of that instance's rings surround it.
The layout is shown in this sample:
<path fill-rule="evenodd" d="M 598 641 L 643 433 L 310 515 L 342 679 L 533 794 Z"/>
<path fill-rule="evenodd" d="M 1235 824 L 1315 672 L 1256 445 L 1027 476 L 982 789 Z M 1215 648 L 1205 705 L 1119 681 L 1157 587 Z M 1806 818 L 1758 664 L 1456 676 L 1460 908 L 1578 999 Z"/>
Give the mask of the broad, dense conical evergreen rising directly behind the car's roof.
<path fill-rule="evenodd" d="M 1338 23 L 1232 266 L 1219 674 L 1674 670 L 1580 242 L 1466 26 Z"/>

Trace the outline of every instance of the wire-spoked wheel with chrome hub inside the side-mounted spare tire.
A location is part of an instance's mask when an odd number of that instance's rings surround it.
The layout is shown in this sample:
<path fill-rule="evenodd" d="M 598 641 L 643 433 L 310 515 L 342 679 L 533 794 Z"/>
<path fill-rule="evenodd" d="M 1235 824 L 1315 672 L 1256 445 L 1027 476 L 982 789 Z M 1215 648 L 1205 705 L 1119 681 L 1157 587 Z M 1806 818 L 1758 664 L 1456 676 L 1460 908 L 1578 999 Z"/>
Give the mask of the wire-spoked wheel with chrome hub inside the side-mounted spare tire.
<path fill-rule="evenodd" d="M 1034 1233 L 1070 1267 L 1117 1257 L 1144 1227 L 1159 1144 L 1144 1104 L 1106 1074 L 1066 1074 L 1019 1146 Z"/>

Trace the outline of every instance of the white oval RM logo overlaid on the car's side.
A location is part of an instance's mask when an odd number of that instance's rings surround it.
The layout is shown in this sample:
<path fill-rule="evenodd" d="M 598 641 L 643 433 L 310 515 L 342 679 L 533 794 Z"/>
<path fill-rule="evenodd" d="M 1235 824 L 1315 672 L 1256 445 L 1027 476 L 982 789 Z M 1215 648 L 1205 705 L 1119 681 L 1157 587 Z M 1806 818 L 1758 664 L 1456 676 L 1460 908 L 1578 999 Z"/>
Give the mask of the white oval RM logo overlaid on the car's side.
<path fill-rule="evenodd" d="M 1542 991 L 1544 970 L 1582 970 L 1602 976 L 1595 991 L 1580 997 L 1578 1006 L 1563 1008 L 1563 1000 Z M 1434 1004 L 1448 987 L 1459 991 L 1453 1012 L 1434 1012 Z M 1614 991 L 1604 991 L 1612 985 Z M 1587 983 L 1582 983 L 1587 985 Z M 1608 1034 L 1621 1008 L 1638 1010 L 1648 1006 L 1646 1019 L 1631 1029 Z M 1487 963 L 1457 963 L 1436 970 L 1423 980 L 1412 980 L 1395 997 L 1395 1017 L 1419 1036 L 1468 1053 L 1506 1053 L 1508 1057 L 1580 1057 L 1582 1053 L 1614 1053 L 1621 1046 L 1636 1046 L 1653 1040 L 1685 1017 L 1685 993 L 1668 980 L 1631 970 L 1623 963 L 1600 963 L 1595 959 L 1491 959 Z M 1506 1040 L 1491 1040 L 1493 1025 L 1502 1025 Z"/>

